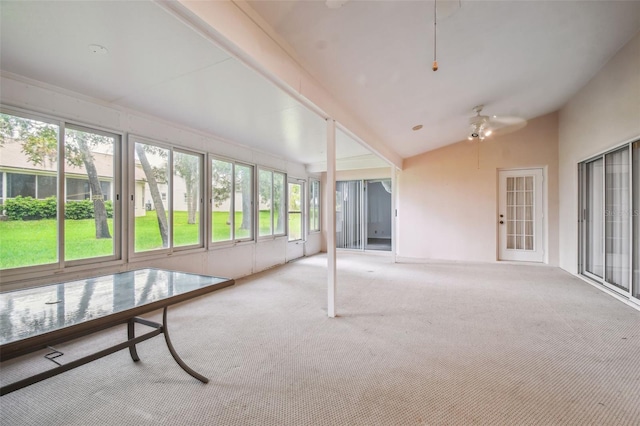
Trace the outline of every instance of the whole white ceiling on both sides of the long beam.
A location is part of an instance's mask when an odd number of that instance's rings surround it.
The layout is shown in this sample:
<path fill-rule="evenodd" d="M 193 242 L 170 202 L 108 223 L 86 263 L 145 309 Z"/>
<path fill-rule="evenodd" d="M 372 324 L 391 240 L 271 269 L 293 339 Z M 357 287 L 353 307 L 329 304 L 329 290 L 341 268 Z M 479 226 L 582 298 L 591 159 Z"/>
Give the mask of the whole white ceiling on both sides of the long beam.
<path fill-rule="evenodd" d="M 234 6 L 405 158 L 464 139 L 477 104 L 525 119 L 558 110 L 640 29 L 639 1 L 438 0 L 440 69 L 433 72 L 433 1 Z M 192 28 L 179 8 L 146 0 L 3 0 L 0 68 L 321 163 L 324 117 Z M 360 135 L 352 136 L 338 133 L 338 157 L 367 157 Z"/>

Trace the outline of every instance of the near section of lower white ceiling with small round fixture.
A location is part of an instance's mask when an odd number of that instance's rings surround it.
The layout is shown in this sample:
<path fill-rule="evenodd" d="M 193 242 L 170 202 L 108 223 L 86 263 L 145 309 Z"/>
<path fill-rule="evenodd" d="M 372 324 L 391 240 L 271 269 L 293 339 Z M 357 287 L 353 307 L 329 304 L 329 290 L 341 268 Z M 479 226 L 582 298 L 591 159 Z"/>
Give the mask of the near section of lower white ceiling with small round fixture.
<path fill-rule="evenodd" d="M 0 11 L 3 70 L 104 101 L 229 58 L 148 1 L 2 1 Z"/>

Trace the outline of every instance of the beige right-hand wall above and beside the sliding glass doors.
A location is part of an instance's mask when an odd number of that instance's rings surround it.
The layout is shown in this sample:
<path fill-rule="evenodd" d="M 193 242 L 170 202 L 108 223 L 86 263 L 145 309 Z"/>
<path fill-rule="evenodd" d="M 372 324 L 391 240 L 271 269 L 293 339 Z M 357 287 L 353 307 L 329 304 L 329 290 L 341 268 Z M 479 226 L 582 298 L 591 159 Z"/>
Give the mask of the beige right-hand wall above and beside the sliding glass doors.
<path fill-rule="evenodd" d="M 578 163 L 640 137 L 640 33 L 559 116 L 560 266 L 577 273 Z"/>

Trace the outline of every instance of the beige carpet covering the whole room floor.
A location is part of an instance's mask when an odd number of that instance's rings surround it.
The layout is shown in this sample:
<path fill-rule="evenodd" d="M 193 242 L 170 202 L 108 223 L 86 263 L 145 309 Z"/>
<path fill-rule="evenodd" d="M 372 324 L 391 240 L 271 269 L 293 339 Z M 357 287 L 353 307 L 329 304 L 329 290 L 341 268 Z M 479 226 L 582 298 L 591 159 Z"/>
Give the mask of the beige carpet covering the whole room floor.
<path fill-rule="evenodd" d="M 557 268 L 340 253 L 170 308 L 159 336 L 0 398 L 2 425 L 640 425 L 640 312 Z M 156 313 L 151 318 L 159 319 Z M 60 347 L 63 362 L 126 335 Z M 36 357 L 36 355 L 38 357 Z M 4 383 L 49 361 L 2 364 Z"/>

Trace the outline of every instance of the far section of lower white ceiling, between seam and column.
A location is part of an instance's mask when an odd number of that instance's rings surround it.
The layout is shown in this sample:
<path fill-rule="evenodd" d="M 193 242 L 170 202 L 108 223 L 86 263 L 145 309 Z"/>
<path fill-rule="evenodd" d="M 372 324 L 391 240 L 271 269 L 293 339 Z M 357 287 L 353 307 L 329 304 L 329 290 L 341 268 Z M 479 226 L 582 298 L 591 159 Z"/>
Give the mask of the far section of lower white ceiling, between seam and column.
<path fill-rule="evenodd" d="M 326 143 L 324 119 L 235 59 L 117 103 L 302 163 Z"/>

